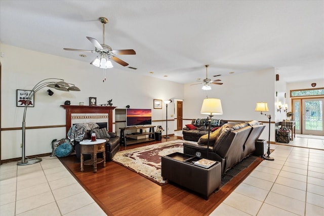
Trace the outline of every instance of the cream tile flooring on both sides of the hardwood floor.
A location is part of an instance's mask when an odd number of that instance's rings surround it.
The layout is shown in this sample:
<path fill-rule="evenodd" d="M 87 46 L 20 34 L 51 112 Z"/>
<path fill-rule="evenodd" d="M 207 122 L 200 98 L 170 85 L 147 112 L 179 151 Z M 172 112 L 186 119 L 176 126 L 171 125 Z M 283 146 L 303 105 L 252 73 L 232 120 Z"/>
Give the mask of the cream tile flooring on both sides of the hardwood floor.
<path fill-rule="evenodd" d="M 211 215 L 324 215 L 323 147 L 298 135 L 271 145 L 275 160 L 263 161 Z M 0 166 L 0 215 L 106 214 L 56 157 L 44 157 Z"/>

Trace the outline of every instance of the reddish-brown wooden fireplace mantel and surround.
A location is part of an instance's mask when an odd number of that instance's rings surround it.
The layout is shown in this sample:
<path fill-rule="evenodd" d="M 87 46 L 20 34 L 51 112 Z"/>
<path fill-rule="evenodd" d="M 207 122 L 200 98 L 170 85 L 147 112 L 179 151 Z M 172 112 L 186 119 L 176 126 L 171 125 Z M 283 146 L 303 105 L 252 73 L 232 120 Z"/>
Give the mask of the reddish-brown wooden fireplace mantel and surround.
<path fill-rule="evenodd" d="M 111 106 L 75 106 L 61 105 L 66 111 L 66 134 L 72 126 L 72 113 L 107 113 L 108 114 L 108 132 L 112 132 L 112 110 L 116 107 Z"/>

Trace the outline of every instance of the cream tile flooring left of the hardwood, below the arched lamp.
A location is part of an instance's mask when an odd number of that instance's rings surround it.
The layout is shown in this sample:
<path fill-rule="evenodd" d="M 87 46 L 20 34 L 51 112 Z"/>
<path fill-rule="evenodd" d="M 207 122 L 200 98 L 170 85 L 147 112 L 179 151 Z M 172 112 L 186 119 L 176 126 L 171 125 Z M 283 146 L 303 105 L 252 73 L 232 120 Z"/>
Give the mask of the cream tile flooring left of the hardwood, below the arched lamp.
<path fill-rule="evenodd" d="M 106 215 L 57 157 L 0 166 L 0 215 Z"/>

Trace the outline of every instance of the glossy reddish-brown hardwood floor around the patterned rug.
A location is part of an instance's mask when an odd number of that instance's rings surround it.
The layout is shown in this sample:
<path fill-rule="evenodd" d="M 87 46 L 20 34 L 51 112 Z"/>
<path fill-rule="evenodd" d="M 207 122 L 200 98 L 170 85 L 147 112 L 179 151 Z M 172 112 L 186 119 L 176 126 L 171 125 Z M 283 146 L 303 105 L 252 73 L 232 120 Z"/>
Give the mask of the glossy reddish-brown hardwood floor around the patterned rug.
<path fill-rule="evenodd" d="M 121 146 L 120 151 L 182 139 L 170 137 L 161 141 Z M 92 166 L 85 166 L 85 171 L 81 172 L 80 162 L 74 156 L 60 160 L 107 215 L 208 215 L 259 164 L 253 163 L 205 200 L 173 183 L 159 186 L 113 161 L 107 162 L 106 167 L 98 164 L 95 174 Z"/>

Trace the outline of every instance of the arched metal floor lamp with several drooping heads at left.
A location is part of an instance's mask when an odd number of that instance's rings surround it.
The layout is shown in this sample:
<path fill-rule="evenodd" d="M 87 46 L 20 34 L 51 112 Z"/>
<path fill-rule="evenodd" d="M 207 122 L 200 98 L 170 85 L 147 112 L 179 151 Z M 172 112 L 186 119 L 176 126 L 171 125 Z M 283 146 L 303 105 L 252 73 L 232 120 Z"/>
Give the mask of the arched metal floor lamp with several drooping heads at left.
<path fill-rule="evenodd" d="M 80 91 L 79 88 L 77 88 L 74 84 L 67 83 L 64 81 L 64 79 L 58 79 L 58 78 L 48 78 L 48 79 L 43 79 L 42 81 L 39 81 L 34 88 L 30 91 L 30 94 L 28 96 L 28 99 L 25 104 L 25 109 L 24 109 L 24 115 L 22 119 L 22 147 L 21 147 L 21 161 L 18 161 L 17 165 L 29 165 L 29 164 L 34 164 L 42 161 L 42 158 L 33 158 L 33 159 L 25 159 L 25 134 L 26 134 L 26 112 L 27 112 L 27 107 L 32 99 L 34 97 L 35 93 L 38 92 L 39 90 L 45 88 L 45 87 L 50 87 L 54 88 L 56 90 L 60 91 Z"/>

